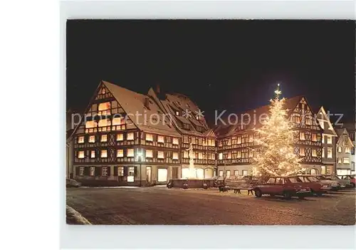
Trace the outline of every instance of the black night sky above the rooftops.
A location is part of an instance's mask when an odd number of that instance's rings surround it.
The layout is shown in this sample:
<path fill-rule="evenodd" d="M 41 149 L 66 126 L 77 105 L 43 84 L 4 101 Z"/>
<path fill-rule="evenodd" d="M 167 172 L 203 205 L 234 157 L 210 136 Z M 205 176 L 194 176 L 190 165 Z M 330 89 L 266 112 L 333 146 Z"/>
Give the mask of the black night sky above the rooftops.
<path fill-rule="evenodd" d="M 100 80 L 146 94 L 159 84 L 214 110 L 241 113 L 284 97 L 355 120 L 354 21 L 67 22 L 67 109 Z"/>

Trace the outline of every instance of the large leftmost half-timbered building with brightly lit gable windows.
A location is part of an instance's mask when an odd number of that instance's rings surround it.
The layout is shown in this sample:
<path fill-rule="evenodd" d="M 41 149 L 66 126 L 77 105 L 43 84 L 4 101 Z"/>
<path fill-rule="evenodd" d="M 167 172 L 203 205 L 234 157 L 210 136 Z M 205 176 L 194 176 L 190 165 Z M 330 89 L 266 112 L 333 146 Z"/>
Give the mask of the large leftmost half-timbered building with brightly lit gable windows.
<path fill-rule="evenodd" d="M 83 184 L 165 184 L 181 176 L 182 137 L 155 100 L 101 81 L 73 132 Z"/>

